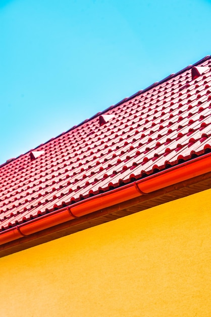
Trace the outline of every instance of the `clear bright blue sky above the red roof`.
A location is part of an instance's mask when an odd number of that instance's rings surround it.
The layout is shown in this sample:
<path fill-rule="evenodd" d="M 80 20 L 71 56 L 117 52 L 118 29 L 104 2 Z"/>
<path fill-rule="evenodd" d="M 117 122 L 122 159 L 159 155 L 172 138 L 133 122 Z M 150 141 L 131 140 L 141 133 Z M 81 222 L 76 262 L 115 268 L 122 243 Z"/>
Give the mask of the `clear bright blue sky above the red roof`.
<path fill-rule="evenodd" d="M 0 164 L 211 54 L 208 0 L 0 0 Z"/>

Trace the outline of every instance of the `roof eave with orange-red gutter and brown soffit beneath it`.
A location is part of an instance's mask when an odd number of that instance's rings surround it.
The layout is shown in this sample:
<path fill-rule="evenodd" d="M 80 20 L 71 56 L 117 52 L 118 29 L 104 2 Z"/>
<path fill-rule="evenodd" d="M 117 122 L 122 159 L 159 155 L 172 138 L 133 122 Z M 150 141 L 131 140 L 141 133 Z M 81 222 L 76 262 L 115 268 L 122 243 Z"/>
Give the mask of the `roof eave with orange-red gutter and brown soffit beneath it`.
<path fill-rule="evenodd" d="M 0 256 L 184 197 L 211 186 L 211 153 L 0 233 Z"/>

